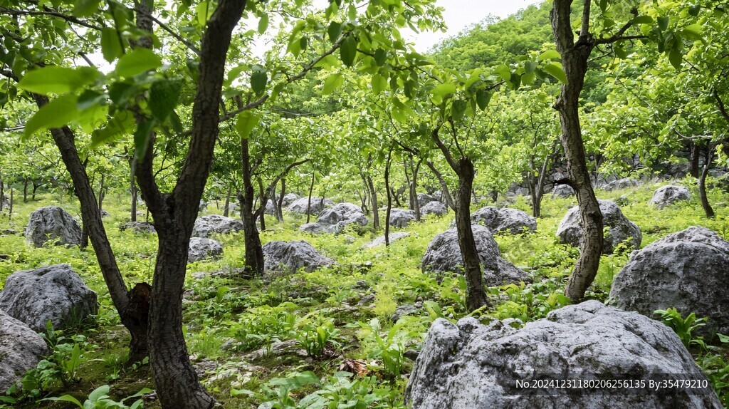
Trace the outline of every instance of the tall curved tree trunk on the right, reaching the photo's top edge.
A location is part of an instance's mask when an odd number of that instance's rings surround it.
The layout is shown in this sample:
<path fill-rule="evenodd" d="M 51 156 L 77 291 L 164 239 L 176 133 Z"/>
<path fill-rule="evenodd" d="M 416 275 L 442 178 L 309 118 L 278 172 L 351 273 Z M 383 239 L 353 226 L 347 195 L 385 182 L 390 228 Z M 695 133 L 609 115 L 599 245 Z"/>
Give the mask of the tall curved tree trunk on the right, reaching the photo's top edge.
<path fill-rule="evenodd" d="M 554 0 L 550 17 L 557 51 L 562 57 L 562 66 L 564 66 L 567 77 L 567 83 L 562 85 L 554 108 L 559 112 L 562 129 L 561 142 L 567 160 L 567 174 L 569 184 L 577 195 L 583 238 L 580 258 L 567 281 L 565 295 L 573 302 L 578 302 L 585 297 L 585 292 L 595 279 L 600 265 L 603 224 L 602 213 L 590 183 L 590 174 L 585 160 L 579 113 L 580 92 L 585 82 L 588 58 L 594 47 L 594 40 L 588 32 L 590 2 L 585 1 L 582 30 L 577 43 L 574 43 L 572 32 L 571 3 L 572 0 Z"/>

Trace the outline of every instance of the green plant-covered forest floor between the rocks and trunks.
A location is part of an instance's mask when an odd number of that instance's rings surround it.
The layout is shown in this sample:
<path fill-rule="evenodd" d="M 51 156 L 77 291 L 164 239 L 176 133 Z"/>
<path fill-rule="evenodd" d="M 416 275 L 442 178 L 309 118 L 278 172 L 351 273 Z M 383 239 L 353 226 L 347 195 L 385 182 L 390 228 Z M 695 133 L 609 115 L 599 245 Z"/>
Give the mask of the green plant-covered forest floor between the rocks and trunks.
<path fill-rule="evenodd" d="M 624 196 L 627 203 L 621 208 L 641 228 L 642 247 L 692 225 L 709 227 L 729 238 L 727 193 L 709 191 L 717 217 L 706 219 L 695 187 L 691 188 L 690 202 L 663 210 L 647 206 L 658 186 L 652 183 L 615 192 L 598 190 L 597 194 L 611 200 Z M 109 194 L 104 203 L 111 214 L 105 218 L 106 230 L 127 283 L 151 282 L 156 235 L 119 230 L 128 221 L 126 201 L 125 195 Z M 39 200 L 17 203 L 11 220 L 0 218 L 0 230 L 22 232 L 31 211 L 52 204 L 79 214 L 75 198 L 40 195 Z M 472 210 L 491 204 L 473 205 Z M 578 251 L 558 244 L 555 231 L 574 204 L 574 197 L 552 199 L 547 195 L 536 233 L 496 236 L 502 256 L 529 272 L 532 282 L 490 289 L 495 307 L 481 311 L 483 319 L 490 316 L 528 322 L 543 318 L 567 302 L 562 292 Z M 521 196 L 509 206 L 531 214 Z M 201 214 L 222 214 L 222 203 L 219 208 L 209 203 Z M 321 408 L 332 401 L 360 402 L 368 408 L 404 407 L 402 397 L 413 365 L 406 351 L 418 348 L 437 317 L 455 321 L 467 315 L 464 280 L 422 273 L 420 267 L 429 242 L 446 230 L 452 219 L 451 212 L 404 229 L 392 229 L 410 235 L 394 241 L 389 248 L 363 249 L 364 244 L 383 234 L 375 233 L 371 223 L 341 235 L 310 235 L 298 230 L 305 217 L 284 212 L 282 224 L 267 217 L 268 230 L 261 233 L 264 243 L 303 239 L 338 265 L 313 273 L 266 275 L 254 280 L 237 278 L 232 273 L 243 267 L 243 234 L 218 235 L 215 238 L 225 246 L 223 256 L 187 268 L 184 323 L 190 357 L 200 381 L 225 408 L 257 408 L 261 404 L 262 408 Z M 109 395 L 117 400 L 143 388 L 154 388 L 146 362 L 124 364 L 128 334 L 112 307 L 93 250 L 65 246 L 34 249 L 22 235 L 4 235 L 0 236 L 0 254 L 9 255 L 9 260 L 0 260 L 0 288 L 14 271 L 67 263 L 98 293 L 101 303 L 92 324 L 63 332 L 68 337 L 65 342 L 76 343 L 82 351 L 78 365 L 68 367 L 63 379 L 66 384 L 58 378 L 35 390 L 18 392 L 15 396 L 24 399 L 15 407 L 72 408 L 75 406 L 68 402 L 39 399 L 70 394 L 83 402 L 103 385 L 110 386 Z M 628 254 L 602 257 L 589 298 L 608 301 L 612 278 L 625 265 Z M 211 274 L 215 271 L 218 273 Z M 393 323 L 392 313 L 406 304 L 420 308 Z M 74 340 L 74 335 L 83 337 Z M 692 352 L 706 370 L 729 373 L 727 348 L 714 350 L 720 361 L 712 367 L 707 367 L 704 352 Z M 147 408 L 159 407 L 154 394 L 147 394 L 144 400 Z M 727 405 L 726 397 L 724 403 Z"/>

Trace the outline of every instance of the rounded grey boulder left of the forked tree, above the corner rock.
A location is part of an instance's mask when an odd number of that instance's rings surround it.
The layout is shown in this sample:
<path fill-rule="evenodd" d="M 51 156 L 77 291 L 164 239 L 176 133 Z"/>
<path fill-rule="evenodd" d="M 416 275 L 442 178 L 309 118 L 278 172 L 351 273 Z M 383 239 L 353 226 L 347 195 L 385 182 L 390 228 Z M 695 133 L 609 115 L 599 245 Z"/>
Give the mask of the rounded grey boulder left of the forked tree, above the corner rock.
<path fill-rule="evenodd" d="M 61 330 L 98 311 L 96 293 L 67 264 L 16 271 L 0 292 L 0 309 L 36 332 Z"/>

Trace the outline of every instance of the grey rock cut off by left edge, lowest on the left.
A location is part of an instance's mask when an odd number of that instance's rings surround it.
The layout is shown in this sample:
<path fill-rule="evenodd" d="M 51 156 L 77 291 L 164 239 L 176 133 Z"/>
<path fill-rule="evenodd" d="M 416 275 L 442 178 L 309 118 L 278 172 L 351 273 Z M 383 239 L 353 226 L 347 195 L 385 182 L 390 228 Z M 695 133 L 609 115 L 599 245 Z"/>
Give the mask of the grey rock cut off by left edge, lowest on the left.
<path fill-rule="evenodd" d="M 0 310 L 0 394 L 34 369 L 47 353 L 40 335 Z"/>

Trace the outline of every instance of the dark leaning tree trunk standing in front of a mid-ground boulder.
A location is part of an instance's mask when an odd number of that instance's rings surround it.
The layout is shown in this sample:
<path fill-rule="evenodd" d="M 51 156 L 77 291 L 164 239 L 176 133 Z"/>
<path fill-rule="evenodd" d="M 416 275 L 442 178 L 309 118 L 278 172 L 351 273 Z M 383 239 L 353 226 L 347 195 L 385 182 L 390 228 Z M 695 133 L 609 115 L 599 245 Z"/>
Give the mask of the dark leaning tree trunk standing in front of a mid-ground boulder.
<path fill-rule="evenodd" d="M 456 173 L 459 177 L 459 189 L 456 192 L 456 230 L 458 244 L 463 257 L 464 275 L 466 276 L 466 309 L 469 312 L 487 305 L 486 287 L 483 284 L 481 262 L 478 257 L 476 241 L 471 227 L 471 192 L 475 169 L 467 157 L 461 157 Z M 493 260 L 491 269 L 499 272 L 499 265 Z"/>

